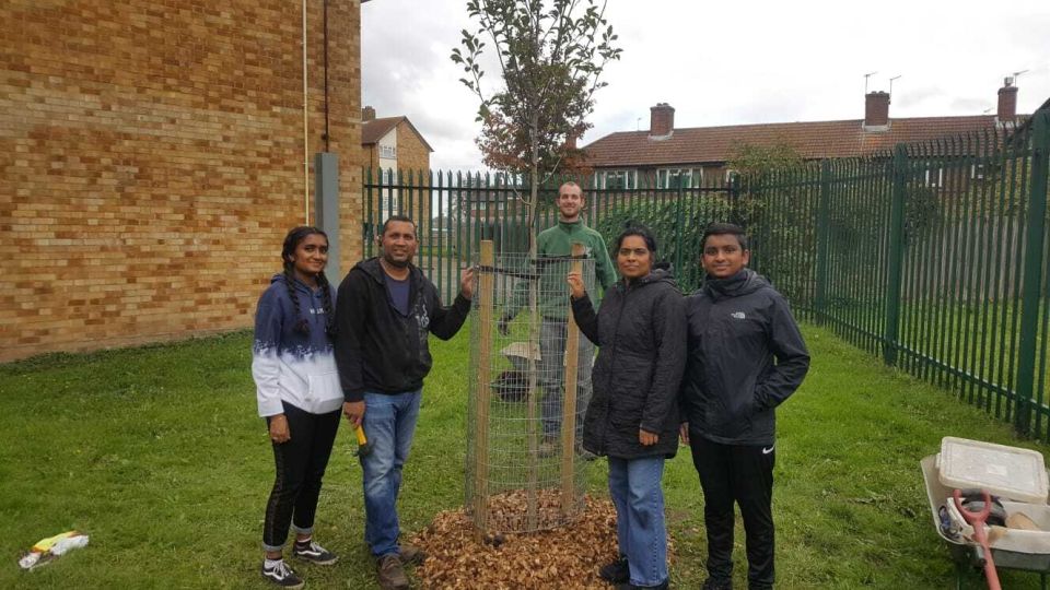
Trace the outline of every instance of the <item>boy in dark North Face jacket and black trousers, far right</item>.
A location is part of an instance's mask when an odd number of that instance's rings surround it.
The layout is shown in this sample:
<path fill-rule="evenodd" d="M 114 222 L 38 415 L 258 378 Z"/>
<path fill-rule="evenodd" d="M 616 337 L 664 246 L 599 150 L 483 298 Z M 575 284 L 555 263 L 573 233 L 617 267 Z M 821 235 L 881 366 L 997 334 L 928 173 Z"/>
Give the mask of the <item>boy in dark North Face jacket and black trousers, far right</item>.
<path fill-rule="evenodd" d="M 809 353 L 788 302 L 747 269 L 744 231 L 703 235 L 703 287 L 687 300 L 681 438 L 703 488 L 705 590 L 732 588 L 733 504 L 740 506 L 751 589 L 773 586 L 774 409 L 802 384 Z"/>

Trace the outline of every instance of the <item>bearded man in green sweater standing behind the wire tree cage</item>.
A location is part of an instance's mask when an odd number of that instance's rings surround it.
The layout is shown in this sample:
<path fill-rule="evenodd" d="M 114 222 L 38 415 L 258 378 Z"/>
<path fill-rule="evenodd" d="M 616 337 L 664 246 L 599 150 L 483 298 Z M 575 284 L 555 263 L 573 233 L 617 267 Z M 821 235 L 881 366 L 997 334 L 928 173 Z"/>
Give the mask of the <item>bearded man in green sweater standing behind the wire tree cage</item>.
<path fill-rule="evenodd" d="M 558 225 L 544 229 L 536 238 L 537 270 L 539 271 L 539 312 L 542 322 L 539 331 L 539 386 L 544 389 L 540 405 L 540 418 L 544 425 L 544 439 L 539 453 L 545 457 L 555 455 L 561 430 L 562 375 L 564 371 L 565 332 L 569 319 L 569 291 L 565 275 L 567 260 L 572 255 L 572 245 L 582 244 L 586 257 L 595 261 L 595 274 L 598 284 L 607 290 L 616 282 L 609 251 L 602 234 L 584 225 L 580 213 L 585 204 L 583 189 L 569 181 L 558 188 Z M 550 259 L 545 261 L 544 259 Z M 559 263 L 560 261 L 560 263 Z M 546 262 L 546 263 L 545 263 Z M 528 284 L 520 283 L 499 322 L 503 334 L 509 332 L 508 324 L 528 303 Z M 583 414 L 591 401 L 591 366 L 594 363 L 594 345 L 580 339 L 580 355 L 576 374 L 576 446 L 580 446 Z"/>

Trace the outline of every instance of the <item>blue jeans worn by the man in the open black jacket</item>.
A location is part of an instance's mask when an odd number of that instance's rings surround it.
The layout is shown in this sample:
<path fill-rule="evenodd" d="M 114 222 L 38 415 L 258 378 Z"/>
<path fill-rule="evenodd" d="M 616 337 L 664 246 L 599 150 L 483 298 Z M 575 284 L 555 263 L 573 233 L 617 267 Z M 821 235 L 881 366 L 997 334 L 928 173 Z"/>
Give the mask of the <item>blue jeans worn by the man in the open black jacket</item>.
<path fill-rule="evenodd" d="M 398 553 L 397 494 L 419 418 L 422 391 L 364 394 L 364 434 L 372 452 L 361 458 L 364 471 L 364 542 L 382 557 Z"/>

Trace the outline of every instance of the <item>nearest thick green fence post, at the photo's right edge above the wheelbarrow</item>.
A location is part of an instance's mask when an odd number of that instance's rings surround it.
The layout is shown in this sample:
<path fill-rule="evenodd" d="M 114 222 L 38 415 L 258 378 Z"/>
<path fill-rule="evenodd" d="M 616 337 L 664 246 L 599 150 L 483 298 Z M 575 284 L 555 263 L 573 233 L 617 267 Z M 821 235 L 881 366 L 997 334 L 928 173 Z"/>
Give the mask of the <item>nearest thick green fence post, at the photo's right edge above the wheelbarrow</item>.
<path fill-rule="evenodd" d="M 1025 267 L 1020 292 L 1020 342 L 1018 343 L 1017 389 L 1014 398 L 1014 428 L 1023 435 L 1031 429 L 1031 405 L 1035 399 L 1036 342 L 1039 329 L 1040 291 L 1042 288 L 1042 248 L 1047 228 L 1047 175 L 1050 158 L 1050 113 L 1032 117 L 1031 182 L 1028 196 L 1028 220 L 1025 228 Z"/>

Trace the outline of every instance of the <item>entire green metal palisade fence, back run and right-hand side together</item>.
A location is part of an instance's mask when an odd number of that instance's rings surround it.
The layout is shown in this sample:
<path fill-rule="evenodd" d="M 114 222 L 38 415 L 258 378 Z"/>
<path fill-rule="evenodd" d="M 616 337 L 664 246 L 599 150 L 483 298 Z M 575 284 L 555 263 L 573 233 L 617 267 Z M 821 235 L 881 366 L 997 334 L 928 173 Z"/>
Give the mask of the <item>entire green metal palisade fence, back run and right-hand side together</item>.
<path fill-rule="evenodd" d="M 584 188 L 586 222 L 607 241 L 625 224 L 656 234 L 688 292 L 702 282 L 700 236 L 713 221 L 744 225 L 751 267 L 800 317 L 1050 440 L 1047 400 L 1047 177 L 1050 113 L 861 158 L 687 186 L 596 188 L 594 177 L 552 178 L 540 189 L 538 228 L 557 221 L 562 181 Z M 450 299 L 478 240 L 528 249 L 521 197 L 494 174 L 364 173 L 365 256 L 390 212 L 419 223 L 422 267 Z M 608 184 L 608 180 L 605 180 Z M 438 215 L 442 212 L 442 215 Z M 849 387 L 843 384 L 843 387 Z"/>

